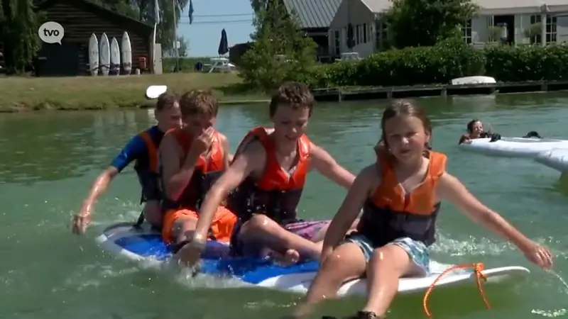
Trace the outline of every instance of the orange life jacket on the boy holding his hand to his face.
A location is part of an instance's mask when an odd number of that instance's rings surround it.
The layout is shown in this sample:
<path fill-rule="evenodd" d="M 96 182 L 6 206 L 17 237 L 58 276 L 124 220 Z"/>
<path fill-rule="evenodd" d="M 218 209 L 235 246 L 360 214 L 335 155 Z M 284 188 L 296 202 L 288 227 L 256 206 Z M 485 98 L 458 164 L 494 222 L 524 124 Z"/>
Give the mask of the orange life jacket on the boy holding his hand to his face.
<path fill-rule="evenodd" d="M 180 147 L 182 147 L 183 153 L 180 164 L 183 164 L 183 162 L 185 162 L 185 157 L 187 157 L 187 153 L 190 151 L 192 142 L 191 138 L 179 128 L 168 130 L 165 134 L 173 134 Z M 165 211 L 173 208 L 187 208 L 192 211 L 198 211 L 205 194 L 207 194 L 207 191 L 209 191 L 211 186 L 221 176 L 225 169 L 223 147 L 219 140 L 218 133 L 215 132 L 211 150 L 209 150 L 209 155 L 207 158 L 203 155 L 200 156 L 197 164 L 195 165 L 192 177 L 187 183 L 185 189 L 182 191 L 180 198 L 176 201 L 170 198 L 165 198 L 163 208 Z"/>

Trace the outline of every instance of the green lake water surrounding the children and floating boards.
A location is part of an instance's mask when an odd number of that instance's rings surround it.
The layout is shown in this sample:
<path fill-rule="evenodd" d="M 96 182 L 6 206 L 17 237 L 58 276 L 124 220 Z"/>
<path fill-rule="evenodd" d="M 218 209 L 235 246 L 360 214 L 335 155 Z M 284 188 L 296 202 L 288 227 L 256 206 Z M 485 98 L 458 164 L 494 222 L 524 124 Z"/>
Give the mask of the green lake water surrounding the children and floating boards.
<path fill-rule="evenodd" d="M 320 104 L 310 138 L 352 172 L 373 159 L 382 101 Z M 434 123 L 433 144 L 449 156 L 456 175 L 484 203 L 555 252 L 555 269 L 568 277 L 568 188 L 559 173 L 529 159 L 500 159 L 457 147 L 467 121 L 481 118 L 503 136 L 537 130 L 567 138 L 568 95 L 510 95 L 423 99 Z M 224 106 L 218 127 L 234 149 L 254 125 L 267 124 L 265 106 Z M 117 178 L 96 206 L 87 235 L 70 233 L 79 207 L 101 169 L 131 135 L 153 124 L 146 111 L 34 113 L 0 117 L 0 318 L 278 318 L 298 297 L 219 286 L 140 267 L 102 253 L 94 244 L 100 228 L 138 216 L 139 189 L 132 169 Z M 317 174 L 310 176 L 301 203 L 308 218 L 330 218 L 344 191 Z M 440 262 L 484 262 L 486 267 L 521 265 L 525 282 L 488 287 L 493 306 L 485 310 L 474 284 L 435 291 L 436 318 L 540 318 L 568 308 L 568 291 L 554 276 L 525 261 L 514 247 L 491 235 L 446 204 L 433 250 Z M 322 313 L 345 315 L 361 298 L 324 305 Z M 422 299 L 399 298 L 390 318 L 422 318 Z"/>

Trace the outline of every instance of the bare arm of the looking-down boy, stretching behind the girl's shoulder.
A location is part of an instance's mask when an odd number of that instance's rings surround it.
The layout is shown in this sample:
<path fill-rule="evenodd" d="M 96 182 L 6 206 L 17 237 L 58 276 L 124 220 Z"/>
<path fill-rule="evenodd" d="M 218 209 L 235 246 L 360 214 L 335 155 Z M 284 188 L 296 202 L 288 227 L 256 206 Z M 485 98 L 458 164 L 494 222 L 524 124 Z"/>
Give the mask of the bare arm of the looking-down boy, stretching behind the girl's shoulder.
<path fill-rule="evenodd" d="M 317 169 L 317 172 L 320 172 L 324 177 L 331 179 L 345 189 L 351 187 L 355 180 L 354 174 L 337 164 L 332 155 L 329 155 L 322 147 L 312 143 L 310 157 L 312 159 L 311 164 Z"/>

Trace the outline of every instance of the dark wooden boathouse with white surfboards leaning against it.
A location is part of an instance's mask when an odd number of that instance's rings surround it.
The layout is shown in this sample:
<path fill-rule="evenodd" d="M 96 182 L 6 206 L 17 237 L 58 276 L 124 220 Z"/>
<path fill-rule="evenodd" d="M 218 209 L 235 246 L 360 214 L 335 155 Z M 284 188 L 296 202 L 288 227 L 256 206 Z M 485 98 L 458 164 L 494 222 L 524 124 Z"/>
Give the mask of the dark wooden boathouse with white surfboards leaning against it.
<path fill-rule="evenodd" d="M 124 31 L 128 32 L 132 48 L 132 72 L 141 68 L 141 57 L 146 58 L 147 67 L 152 67 L 153 25 L 116 13 L 90 0 L 44 0 L 36 5 L 36 9 L 43 12 L 45 21 L 60 23 L 65 30 L 61 45 L 43 43 L 35 61 L 35 73 L 39 77 L 90 74 L 89 38 L 92 33 L 99 41 L 102 33 L 107 33 L 109 41 L 114 37 L 120 45 Z"/>

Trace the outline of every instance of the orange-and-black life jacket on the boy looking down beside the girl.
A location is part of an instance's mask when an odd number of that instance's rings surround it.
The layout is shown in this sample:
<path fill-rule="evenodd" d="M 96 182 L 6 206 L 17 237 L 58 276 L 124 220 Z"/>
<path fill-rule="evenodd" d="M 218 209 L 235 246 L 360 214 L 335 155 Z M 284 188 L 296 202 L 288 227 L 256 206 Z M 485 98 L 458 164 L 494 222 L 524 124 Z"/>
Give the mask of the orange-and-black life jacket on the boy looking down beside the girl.
<path fill-rule="evenodd" d="M 230 197 L 230 208 L 241 221 L 253 214 L 265 214 L 280 224 L 296 220 L 307 172 L 310 169 L 311 142 L 306 135 L 297 141 L 297 164 L 290 174 L 283 171 L 276 157 L 275 145 L 265 128 L 253 128 L 243 139 L 235 158 L 245 144 L 258 140 L 266 151 L 266 167 L 261 178 L 249 177 Z"/>

